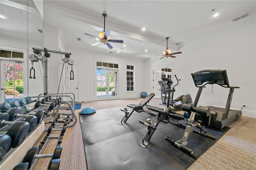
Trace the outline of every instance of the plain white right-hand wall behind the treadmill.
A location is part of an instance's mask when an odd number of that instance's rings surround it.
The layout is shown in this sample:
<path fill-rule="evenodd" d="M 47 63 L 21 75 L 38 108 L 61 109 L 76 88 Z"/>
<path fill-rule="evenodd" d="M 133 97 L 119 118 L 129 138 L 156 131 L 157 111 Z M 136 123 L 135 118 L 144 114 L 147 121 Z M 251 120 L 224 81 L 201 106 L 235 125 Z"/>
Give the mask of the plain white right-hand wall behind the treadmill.
<path fill-rule="evenodd" d="M 238 86 L 234 90 L 231 109 L 242 109 L 243 116 L 256 118 L 256 26 L 251 24 L 243 28 L 228 32 L 216 38 L 203 42 L 185 45 L 182 54 L 176 58 L 154 58 L 146 61 L 150 68 L 144 71 L 145 77 L 150 76 L 150 70 L 166 61 L 174 63 L 173 73 L 176 74 L 180 85 L 176 87 L 174 97 L 189 93 L 194 100 L 198 88 L 195 87 L 191 73 L 203 69 L 226 69 L 231 86 Z M 146 79 L 150 84 L 151 79 Z M 174 83 L 176 81 L 174 80 Z M 150 87 L 147 86 L 150 91 Z M 212 93 L 213 90 L 213 93 Z M 198 105 L 213 105 L 225 107 L 229 89 L 214 85 L 207 85 L 203 89 Z"/>

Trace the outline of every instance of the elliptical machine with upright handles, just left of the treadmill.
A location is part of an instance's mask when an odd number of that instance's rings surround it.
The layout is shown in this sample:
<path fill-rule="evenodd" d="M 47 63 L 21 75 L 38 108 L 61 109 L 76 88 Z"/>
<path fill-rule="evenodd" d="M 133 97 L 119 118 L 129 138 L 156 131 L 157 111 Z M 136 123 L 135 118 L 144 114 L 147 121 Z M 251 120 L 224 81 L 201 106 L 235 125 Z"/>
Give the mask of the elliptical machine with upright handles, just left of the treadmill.
<path fill-rule="evenodd" d="M 184 103 L 186 104 L 191 104 L 193 103 L 192 98 L 190 96 L 190 94 L 186 94 L 186 95 L 180 95 L 179 97 L 177 97 L 176 99 L 173 100 L 173 96 L 174 96 L 174 91 L 175 91 L 175 86 L 177 86 L 179 84 L 179 80 L 177 78 L 176 75 L 174 75 L 176 80 L 177 80 L 177 84 L 172 86 L 172 80 L 162 77 L 162 80 L 158 81 L 160 87 L 161 87 L 161 95 L 165 94 L 164 97 L 161 96 L 161 100 L 162 103 L 160 105 L 166 105 L 166 109 L 165 111 L 170 112 L 170 111 L 178 111 L 182 109 L 182 105 Z M 170 93 L 172 93 L 172 96 L 170 97 Z M 167 97 L 168 95 L 168 97 Z M 166 102 L 166 97 L 167 97 L 167 102 Z M 180 103 L 178 103 L 180 102 Z"/>

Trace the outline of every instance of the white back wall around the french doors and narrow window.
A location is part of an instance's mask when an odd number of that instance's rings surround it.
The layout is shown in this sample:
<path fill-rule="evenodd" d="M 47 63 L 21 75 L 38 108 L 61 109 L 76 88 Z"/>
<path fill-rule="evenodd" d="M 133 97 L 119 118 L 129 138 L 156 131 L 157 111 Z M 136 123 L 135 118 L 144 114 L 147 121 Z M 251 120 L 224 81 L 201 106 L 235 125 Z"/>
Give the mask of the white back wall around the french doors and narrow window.
<path fill-rule="evenodd" d="M 119 64 L 119 99 L 140 97 L 144 89 L 144 61 L 141 59 L 127 58 L 120 55 L 95 53 L 86 49 L 76 49 L 67 47 L 67 51 L 72 53 L 75 63 L 80 63 L 79 70 L 79 98 L 78 101 L 96 100 L 96 80 L 95 80 L 95 60 L 102 59 Z M 135 92 L 126 92 L 126 64 L 135 65 Z"/>

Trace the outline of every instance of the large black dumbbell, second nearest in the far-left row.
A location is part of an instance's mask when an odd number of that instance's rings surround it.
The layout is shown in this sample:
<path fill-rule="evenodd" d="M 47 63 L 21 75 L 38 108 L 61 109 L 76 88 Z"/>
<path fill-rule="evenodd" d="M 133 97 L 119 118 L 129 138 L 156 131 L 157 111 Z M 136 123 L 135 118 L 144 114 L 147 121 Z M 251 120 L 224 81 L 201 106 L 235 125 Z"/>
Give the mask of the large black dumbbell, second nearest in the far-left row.
<path fill-rule="evenodd" d="M 8 119 L 9 115 L 7 113 L 0 113 L 1 134 L 6 131 L 5 134 L 8 134 L 11 137 L 12 148 L 16 148 L 17 146 L 20 146 L 20 144 L 22 144 L 22 142 L 25 140 L 30 129 L 30 124 L 24 121 L 7 121 Z M 11 126 L 7 127 L 7 125 Z"/>

